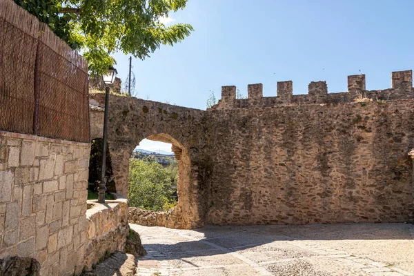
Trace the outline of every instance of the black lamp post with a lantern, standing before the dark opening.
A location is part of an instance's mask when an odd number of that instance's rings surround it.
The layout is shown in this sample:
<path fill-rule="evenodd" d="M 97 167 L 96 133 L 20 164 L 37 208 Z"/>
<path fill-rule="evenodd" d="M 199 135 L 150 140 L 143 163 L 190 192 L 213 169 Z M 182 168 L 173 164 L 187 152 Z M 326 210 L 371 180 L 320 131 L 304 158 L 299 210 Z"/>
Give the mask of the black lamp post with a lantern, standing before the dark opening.
<path fill-rule="evenodd" d="M 103 83 L 105 83 L 105 115 L 103 116 L 103 145 L 102 145 L 102 172 L 101 181 L 98 188 L 98 202 L 105 203 L 105 191 L 106 191 L 106 139 L 108 138 L 108 113 L 109 113 L 109 86 L 115 81 L 117 76 L 117 69 L 109 68 L 105 75 L 102 75 Z"/>

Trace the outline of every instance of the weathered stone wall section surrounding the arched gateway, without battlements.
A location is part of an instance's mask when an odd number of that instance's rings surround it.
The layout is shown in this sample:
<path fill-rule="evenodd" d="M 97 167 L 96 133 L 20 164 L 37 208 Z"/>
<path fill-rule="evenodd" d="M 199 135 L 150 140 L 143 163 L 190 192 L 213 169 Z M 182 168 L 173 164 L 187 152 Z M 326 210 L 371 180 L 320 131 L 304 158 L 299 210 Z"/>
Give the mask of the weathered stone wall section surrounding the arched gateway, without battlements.
<path fill-rule="evenodd" d="M 103 128 L 104 95 L 91 95 L 99 107 L 91 110 L 91 131 L 99 135 Z M 196 228 L 203 225 L 206 198 L 199 185 L 199 124 L 203 110 L 172 106 L 142 99 L 110 96 L 108 145 L 117 193 L 128 196 L 129 159 L 145 138 L 172 144 L 179 162 L 177 206 L 167 215 L 165 226 Z M 91 136 L 92 136 L 91 133 Z"/>

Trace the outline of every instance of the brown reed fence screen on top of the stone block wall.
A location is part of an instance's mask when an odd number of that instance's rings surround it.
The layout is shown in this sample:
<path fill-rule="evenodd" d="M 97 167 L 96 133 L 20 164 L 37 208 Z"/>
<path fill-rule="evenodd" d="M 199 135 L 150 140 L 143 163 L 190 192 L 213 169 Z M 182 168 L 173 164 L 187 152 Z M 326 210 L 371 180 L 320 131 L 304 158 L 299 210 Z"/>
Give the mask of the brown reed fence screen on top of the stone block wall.
<path fill-rule="evenodd" d="M 11 0 L 0 0 L 0 130 L 90 141 L 88 63 Z"/>

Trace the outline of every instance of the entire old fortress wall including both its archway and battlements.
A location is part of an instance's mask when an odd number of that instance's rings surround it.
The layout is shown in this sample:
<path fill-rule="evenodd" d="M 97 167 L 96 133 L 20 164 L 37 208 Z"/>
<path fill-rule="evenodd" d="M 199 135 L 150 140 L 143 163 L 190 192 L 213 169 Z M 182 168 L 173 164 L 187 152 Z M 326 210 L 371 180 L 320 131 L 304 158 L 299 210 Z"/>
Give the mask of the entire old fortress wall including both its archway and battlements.
<path fill-rule="evenodd" d="M 311 82 L 276 97 L 262 84 L 236 99 L 224 86 L 210 110 L 111 96 L 110 154 L 117 192 L 127 195 L 128 159 L 148 137 L 170 141 L 181 164 L 179 204 L 169 227 L 204 224 L 315 224 L 413 219 L 414 90 L 412 71 L 367 91 L 365 76 L 348 92 Z M 103 95 L 91 95 L 103 107 Z M 92 138 L 103 112 L 92 108 Z"/>

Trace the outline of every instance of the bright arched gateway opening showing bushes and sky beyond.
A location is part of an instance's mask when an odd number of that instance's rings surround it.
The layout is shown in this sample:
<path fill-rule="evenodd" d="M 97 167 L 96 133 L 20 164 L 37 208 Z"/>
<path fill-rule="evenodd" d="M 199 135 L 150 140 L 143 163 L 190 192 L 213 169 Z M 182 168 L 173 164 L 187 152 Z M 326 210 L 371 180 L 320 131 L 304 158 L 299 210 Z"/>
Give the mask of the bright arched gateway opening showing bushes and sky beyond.
<path fill-rule="evenodd" d="M 156 212 L 177 206 L 181 147 L 164 134 L 139 143 L 129 161 L 128 206 Z"/>

